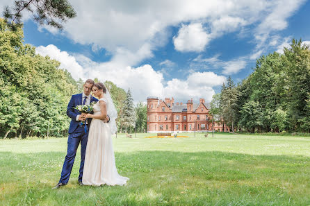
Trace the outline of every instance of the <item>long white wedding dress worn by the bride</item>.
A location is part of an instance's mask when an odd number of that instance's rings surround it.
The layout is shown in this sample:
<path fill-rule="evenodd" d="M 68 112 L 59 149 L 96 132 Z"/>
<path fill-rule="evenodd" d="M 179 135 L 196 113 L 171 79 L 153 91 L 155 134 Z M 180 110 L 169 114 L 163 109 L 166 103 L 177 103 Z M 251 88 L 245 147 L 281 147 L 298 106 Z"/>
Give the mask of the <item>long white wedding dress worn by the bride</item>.
<path fill-rule="evenodd" d="M 105 101 L 106 98 L 100 98 Z M 94 105 L 94 114 L 100 114 L 99 101 Z M 117 173 L 112 145 L 110 125 L 100 119 L 92 119 L 88 133 L 88 143 L 85 152 L 83 169 L 83 184 L 85 185 L 124 185 L 129 178 Z"/>

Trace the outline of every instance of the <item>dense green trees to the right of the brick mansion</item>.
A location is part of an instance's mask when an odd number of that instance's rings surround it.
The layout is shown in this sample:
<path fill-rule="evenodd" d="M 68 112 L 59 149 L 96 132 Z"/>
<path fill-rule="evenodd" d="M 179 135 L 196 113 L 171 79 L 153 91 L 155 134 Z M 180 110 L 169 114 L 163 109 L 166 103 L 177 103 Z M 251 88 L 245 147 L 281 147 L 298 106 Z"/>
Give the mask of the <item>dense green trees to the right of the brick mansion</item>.
<path fill-rule="evenodd" d="M 238 85 L 229 77 L 211 111 L 238 131 L 310 132 L 309 45 L 292 40 L 283 54 L 262 55 L 253 70 Z"/>

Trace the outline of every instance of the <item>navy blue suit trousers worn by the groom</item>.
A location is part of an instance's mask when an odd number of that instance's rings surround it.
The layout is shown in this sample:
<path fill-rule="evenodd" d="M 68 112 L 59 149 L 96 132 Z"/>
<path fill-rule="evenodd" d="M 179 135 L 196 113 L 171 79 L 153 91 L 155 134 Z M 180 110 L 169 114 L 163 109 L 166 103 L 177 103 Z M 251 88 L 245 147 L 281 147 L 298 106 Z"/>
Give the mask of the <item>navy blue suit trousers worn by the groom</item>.
<path fill-rule="evenodd" d="M 89 130 L 89 128 L 88 128 Z M 69 134 L 67 141 L 67 155 L 65 156 L 65 162 L 63 162 L 63 170 L 61 171 L 60 183 L 67 184 L 69 182 L 70 174 L 72 171 L 72 166 L 76 156 L 76 150 L 81 143 L 81 165 L 80 165 L 80 174 L 79 182 L 82 181 L 83 169 L 84 169 L 84 160 L 85 160 L 85 151 L 88 141 L 88 132 L 85 133 L 84 127 L 78 127 L 72 134 Z"/>

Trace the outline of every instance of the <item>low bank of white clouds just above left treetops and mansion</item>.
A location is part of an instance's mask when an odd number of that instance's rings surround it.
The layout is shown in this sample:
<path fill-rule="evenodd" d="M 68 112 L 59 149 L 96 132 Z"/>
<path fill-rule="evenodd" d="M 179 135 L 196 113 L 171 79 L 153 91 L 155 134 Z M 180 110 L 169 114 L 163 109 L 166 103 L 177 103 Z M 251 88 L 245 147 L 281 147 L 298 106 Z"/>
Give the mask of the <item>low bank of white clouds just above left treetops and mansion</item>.
<path fill-rule="evenodd" d="M 146 101 L 147 96 L 174 96 L 180 101 L 186 101 L 188 98 L 194 98 L 196 101 L 206 98 L 206 101 L 211 101 L 213 87 L 226 81 L 225 76 L 218 76 L 213 72 L 193 72 L 186 80 L 174 78 L 164 85 L 163 74 L 161 71 L 155 71 L 151 65 L 135 68 L 126 67 L 113 60 L 97 63 L 84 55 L 70 55 L 60 51 L 54 45 L 39 46 L 36 52 L 58 60 L 61 63 L 60 67 L 70 71 L 74 78 L 111 80 L 125 90 L 130 88 L 135 101 Z"/>

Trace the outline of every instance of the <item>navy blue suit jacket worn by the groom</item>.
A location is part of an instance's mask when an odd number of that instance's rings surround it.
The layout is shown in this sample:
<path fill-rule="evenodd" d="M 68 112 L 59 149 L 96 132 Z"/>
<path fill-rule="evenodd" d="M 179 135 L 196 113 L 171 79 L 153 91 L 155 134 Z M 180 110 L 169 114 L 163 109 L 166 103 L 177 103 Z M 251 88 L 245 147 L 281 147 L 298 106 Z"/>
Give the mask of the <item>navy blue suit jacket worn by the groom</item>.
<path fill-rule="evenodd" d="M 76 110 L 74 108 L 76 108 L 77 105 L 81 105 L 83 103 L 82 98 L 83 98 L 82 93 L 81 94 L 74 94 L 74 95 L 72 95 L 71 100 L 68 103 L 67 116 L 71 118 L 70 127 L 69 127 L 69 131 L 68 131 L 69 134 L 74 133 L 74 130 L 76 130 L 76 128 L 79 126 L 79 123 L 81 123 L 81 121 L 76 121 L 76 116 L 81 114 L 81 112 L 79 112 L 79 110 Z M 94 101 L 98 101 L 98 99 L 90 95 L 90 103 L 92 103 Z M 92 121 L 92 119 L 88 119 L 89 125 L 90 125 L 91 121 Z"/>

